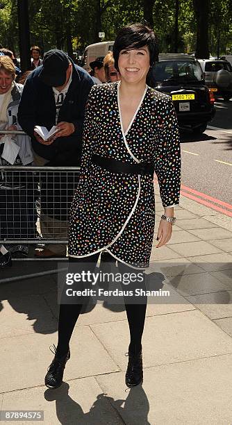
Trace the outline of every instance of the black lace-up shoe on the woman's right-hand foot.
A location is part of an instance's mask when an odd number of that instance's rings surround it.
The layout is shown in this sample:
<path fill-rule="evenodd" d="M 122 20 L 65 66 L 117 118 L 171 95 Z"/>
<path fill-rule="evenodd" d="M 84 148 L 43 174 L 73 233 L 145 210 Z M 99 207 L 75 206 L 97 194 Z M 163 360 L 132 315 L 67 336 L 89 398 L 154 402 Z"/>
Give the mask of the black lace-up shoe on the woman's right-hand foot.
<path fill-rule="evenodd" d="M 126 385 L 131 388 L 139 385 L 143 380 L 142 351 L 135 355 L 126 353 L 126 356 L 129 356 L 128 366 L 126 369 Z"/>

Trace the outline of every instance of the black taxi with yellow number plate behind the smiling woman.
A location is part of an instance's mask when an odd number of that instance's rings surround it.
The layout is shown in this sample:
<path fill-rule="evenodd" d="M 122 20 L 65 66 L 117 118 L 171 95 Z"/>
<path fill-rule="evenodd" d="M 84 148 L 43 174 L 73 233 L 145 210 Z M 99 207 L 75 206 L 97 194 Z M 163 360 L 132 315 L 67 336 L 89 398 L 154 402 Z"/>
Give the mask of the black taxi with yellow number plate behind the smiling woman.
<path fill-rule="evenodd" d="M 204 133 L 215 115 L 215 99 L 206 86 L 199 62 L 193 56 L 160 53 L 147 83 L 172 97 L 180 128 Z"/>

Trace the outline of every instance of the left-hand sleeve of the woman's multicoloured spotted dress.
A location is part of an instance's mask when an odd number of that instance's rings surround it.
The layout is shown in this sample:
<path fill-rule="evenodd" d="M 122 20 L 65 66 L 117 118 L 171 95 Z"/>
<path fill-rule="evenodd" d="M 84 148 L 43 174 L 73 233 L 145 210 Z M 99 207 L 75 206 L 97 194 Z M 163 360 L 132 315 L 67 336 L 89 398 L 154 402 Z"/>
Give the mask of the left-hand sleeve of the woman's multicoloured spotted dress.
<path fill-rule="evenodd" d="M 81 153 L 81 174 L 85 173 L 90 163 L 94 146 L 94 134 L 96 129 L 96 104 L 97 86 L 93 86 L 85 106 L 85 119 L 83 124 L 83 147 Z"/>

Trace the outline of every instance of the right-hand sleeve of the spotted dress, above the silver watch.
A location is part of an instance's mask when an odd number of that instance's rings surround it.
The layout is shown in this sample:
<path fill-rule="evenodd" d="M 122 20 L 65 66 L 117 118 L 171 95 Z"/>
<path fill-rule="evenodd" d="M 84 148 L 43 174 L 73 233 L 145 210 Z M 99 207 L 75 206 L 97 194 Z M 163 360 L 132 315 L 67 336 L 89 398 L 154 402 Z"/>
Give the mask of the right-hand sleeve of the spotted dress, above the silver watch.
<path fill-rule="evenodd" d="M 156 113 L 159 129 L 155 172 L 163 207 L 179 204 L 181 188 L 181 147 L 179 126 L 171 98 L 162 99 Z"/>

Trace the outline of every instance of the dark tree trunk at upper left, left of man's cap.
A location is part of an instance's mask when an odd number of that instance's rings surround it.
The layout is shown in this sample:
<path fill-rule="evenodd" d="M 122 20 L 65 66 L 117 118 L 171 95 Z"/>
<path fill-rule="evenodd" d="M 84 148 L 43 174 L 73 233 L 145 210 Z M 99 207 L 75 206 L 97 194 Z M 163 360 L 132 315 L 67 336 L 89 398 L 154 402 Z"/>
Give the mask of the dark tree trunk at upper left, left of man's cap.
<path fill-rule="evenodd" d="M 19 19 L 19 52 L 22 72 L 31 68 L 30 31 L 28 18 L 28 0 L 17 1 Z"/>

